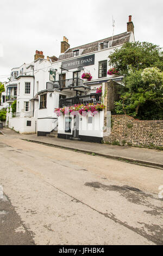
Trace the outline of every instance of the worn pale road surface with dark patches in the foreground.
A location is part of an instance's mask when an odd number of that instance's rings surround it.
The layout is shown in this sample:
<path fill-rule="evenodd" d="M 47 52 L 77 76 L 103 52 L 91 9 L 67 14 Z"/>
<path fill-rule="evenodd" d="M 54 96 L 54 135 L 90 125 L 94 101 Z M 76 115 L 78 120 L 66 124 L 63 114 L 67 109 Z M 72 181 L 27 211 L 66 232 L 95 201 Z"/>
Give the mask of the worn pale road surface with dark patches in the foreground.
<path fill-rule="evenodd" d="M 163 171 L 0 135 L 0 245 L 162 245 Z"/>

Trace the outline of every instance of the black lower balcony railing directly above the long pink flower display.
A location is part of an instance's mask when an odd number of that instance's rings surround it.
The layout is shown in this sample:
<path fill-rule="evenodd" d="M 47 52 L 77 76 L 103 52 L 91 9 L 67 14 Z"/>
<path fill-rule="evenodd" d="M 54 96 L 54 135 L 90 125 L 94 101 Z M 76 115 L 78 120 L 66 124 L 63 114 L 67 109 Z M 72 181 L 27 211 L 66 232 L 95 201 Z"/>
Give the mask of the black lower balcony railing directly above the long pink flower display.
<path fill-rule="evenodd" d="M 101 103 L 102 94 L 101 93 L 92 93 L 83 96 L 75 96 L 67 99 L 60 99 L 59 107 L 70 107 L 75 104 L 83 104 L 86 105 L 88 103 Z"/>

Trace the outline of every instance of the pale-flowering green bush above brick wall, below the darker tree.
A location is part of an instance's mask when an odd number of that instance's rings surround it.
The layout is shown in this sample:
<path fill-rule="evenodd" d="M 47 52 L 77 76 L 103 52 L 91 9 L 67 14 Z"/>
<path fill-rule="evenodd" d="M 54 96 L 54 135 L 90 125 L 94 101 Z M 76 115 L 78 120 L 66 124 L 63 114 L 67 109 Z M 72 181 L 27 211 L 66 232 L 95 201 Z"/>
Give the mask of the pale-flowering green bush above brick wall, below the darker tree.
<path fill-rule="evenodd" d="M 130 71 L 129 75 L 124 78 L 127 92 L 120 96 L 120 101 L 115 102 L 115 110 L 117 114 L 129 114 L 140 119 L 148 117 L 155 119 L 154 115 L 162 118 L 163 112 L 163 72 L 157 68 L 146 68 L 143 71 Z M 148 105 L 146 104 L 148 102 Z M 139 113 L 140 107 L 141 115 Z M 155 107 L 152 116 L 147 114 L 148 108 Z M 146 113 L 143 115 L 143 110 Z M 152 109 L 151 109 L 152 110 Z M 151 110 L 149 112 L 151 112 Z"/>

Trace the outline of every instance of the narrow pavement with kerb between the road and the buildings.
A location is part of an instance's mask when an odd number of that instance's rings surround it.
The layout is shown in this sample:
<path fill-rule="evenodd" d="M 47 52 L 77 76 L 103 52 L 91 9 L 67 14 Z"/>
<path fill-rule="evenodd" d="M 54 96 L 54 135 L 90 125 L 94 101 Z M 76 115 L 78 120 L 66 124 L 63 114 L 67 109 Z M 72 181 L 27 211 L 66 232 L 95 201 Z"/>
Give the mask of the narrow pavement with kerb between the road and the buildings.
<path fill-rule="evenodd" d="M 146 148 L 134 148 L 128 146 L 117 146 L 109 144 L 99 144 L 82 141 L 71 141 L 68 139 L 43 137 L 37 135 L 21 135 L 14 130 L 4 128 L 0 130 L 4 135 L 15 138 L 28 139 L 31 142 L 43 143 L 54 147 L 80 151 L 88 154 L 108 157 L 110 159 L 128 161 L 133 163 L 145 164 L 160 167 L 163 169 L 163 151 Z"/>

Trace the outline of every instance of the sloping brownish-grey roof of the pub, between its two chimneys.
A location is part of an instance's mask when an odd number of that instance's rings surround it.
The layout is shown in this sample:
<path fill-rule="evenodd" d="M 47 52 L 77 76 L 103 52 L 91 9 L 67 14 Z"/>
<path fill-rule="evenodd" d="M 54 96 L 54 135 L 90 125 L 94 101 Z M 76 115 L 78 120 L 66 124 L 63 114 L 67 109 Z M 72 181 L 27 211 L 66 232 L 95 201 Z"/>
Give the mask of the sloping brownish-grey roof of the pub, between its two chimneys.
<path fill-rule="evenodd" d="M 112 41 L 112 47 L 122 45 L 122 44 L 124 44 L 124 42 L 128 42 L 130 40 L 130 35 L 131 35 L 131 32 L 124 32 L 124 33 L 121 33 L 121 34 L 118 34 L 118 35 L 114 35 L 113 36 L 113 41 Z M 102 39 L 102 40 L 91 42 L 90 44 L 70 48 L 66 51 L 66 53 L 61 54 L 59 56 L 58 60 L 72 58 L 74 50 L 83 49 L 83 52 L 82 52 L 81 55 L 98 51 L 98 44 L 100 42 L 108 42 L 108 41 L 111 41 L 111 40 L 112 40 L 112 36 L 110 36 L 109 38 L 105 38 L 105 39 Z"/>

